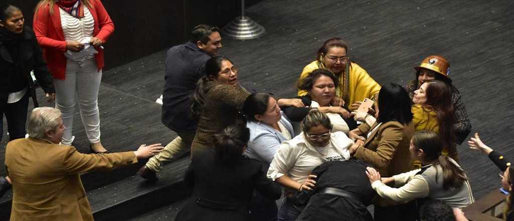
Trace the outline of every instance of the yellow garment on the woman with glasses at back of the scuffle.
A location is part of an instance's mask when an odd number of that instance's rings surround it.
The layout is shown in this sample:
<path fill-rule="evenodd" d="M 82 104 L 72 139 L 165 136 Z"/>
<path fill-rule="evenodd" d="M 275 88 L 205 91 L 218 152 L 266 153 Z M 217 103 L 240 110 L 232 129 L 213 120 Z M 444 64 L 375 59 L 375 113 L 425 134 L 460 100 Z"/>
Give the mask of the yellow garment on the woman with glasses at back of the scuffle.
<path fill-rule="evenodd" d="M 315 69 L 320 68 L 318 61 L 313 61 L 305 68 L 300 75 L 299 81 L 304 79 Z M 355 103 L 356 101 L 363 101 L 364 98 L 375 100 L 380 91 L 380 85 L 368 75 L 368 72 L 358 64 L 352 62 L 350 67 L 350 74 L 345 76 L 337 76 L 339 86 L 336 88 L 336 95 L 344 100 L 347 106 Z M 298 96 L 307 95 L 306 90 L 298 90 Z"/>

